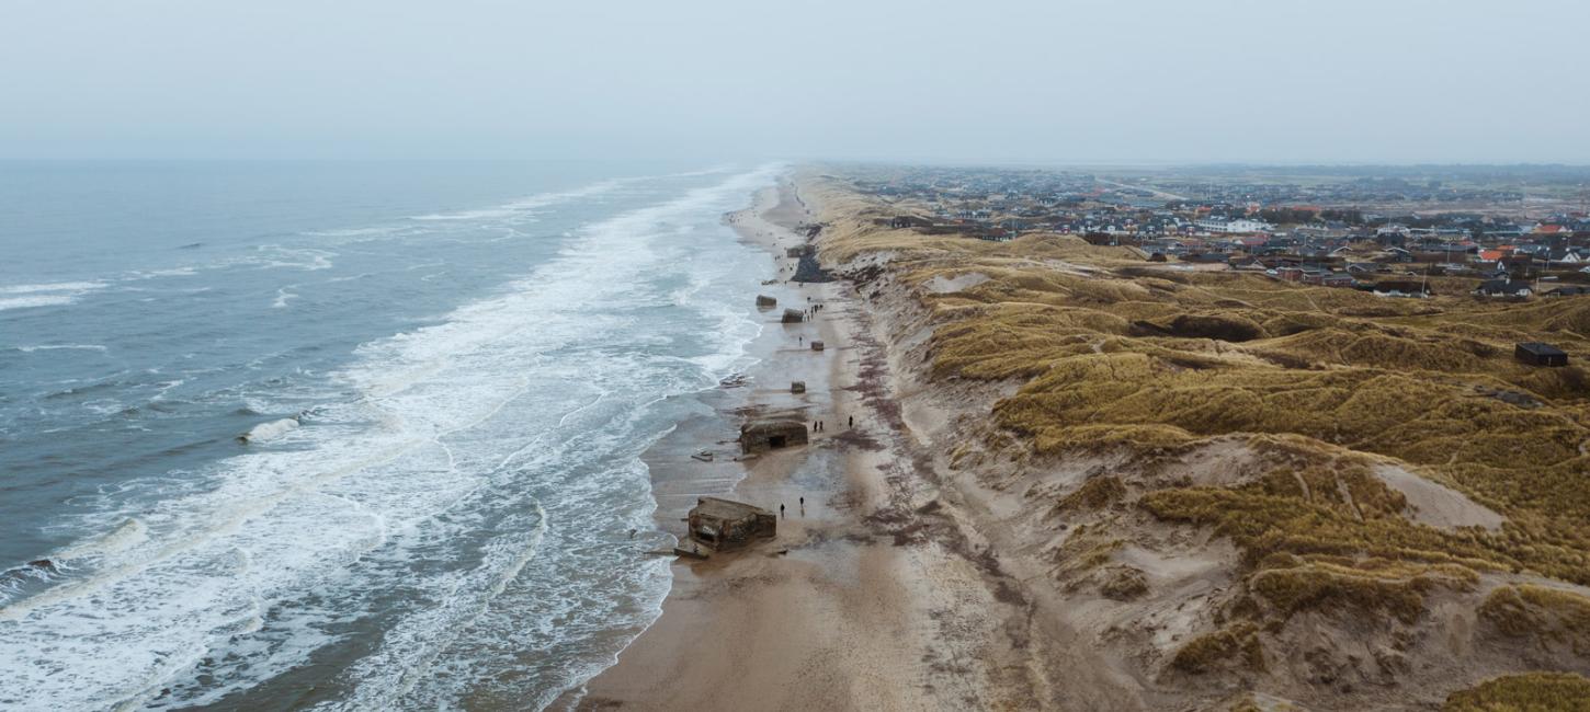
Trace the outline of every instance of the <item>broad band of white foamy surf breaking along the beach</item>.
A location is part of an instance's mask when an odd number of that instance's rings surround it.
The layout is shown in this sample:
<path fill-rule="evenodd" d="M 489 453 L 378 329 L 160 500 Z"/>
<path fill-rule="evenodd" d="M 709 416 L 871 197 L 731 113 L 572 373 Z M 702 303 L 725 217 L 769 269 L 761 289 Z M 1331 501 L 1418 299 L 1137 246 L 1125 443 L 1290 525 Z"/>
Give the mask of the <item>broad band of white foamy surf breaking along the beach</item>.
<path fill-rule="evenodd" d="M 766 267 L 719 215 L 774 170 L 588 222 L 491 297 L 359 346 L 294 426 L 107 493 L 100 534 L 0 598 L 0 709 L 522 709 L 582 683 L 666 593 L 628 539 L 650 529 L 639 455 L 673 397 L 744 366 Z"/>

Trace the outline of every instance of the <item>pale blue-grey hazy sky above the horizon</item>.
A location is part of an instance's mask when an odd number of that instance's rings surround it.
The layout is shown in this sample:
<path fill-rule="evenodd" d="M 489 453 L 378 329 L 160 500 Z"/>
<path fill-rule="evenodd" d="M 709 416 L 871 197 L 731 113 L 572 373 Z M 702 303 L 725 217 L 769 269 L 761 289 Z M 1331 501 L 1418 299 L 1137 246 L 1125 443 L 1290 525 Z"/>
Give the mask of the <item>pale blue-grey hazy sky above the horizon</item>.
<path fill-rule="evenodd" d="M 0 0 L 0 157 L 1590 164 L 1587 0 Z"/>

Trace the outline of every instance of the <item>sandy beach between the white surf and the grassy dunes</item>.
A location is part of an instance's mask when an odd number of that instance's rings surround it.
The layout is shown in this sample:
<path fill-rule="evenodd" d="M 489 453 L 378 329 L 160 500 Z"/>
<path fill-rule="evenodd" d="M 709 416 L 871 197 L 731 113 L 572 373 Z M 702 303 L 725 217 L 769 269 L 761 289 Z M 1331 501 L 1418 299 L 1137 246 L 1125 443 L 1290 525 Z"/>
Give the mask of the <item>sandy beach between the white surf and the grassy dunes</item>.
<path fill-rule="evenodd" d="M 728 216 L 770 250 L 781 278 L 785 248 L 814 222 L 790 181 Z M 762 356 L 746 386 L 708 400 L 716 413 L 684 423 L 649 455 L 658 523 L 679 521 L 696 496 L 719 494 L 770 510 L 784 505 L 776 540 L 674 563 L 661 618 L 614 668 L 563 709 L 965 709 L 1027 704 L 1037 672 L 1026 663 L 1019 598 L 991 585 L 979 544 L 908 472 L 914 445 L 890 407 L 887 358 L 844 281 L 765 286 Z M 779 324 L 785 305 L 822 305 L 801 324 Z M 809 350 L 811 339 L 827 343 Z M 790 394 L 805 380 L 805 394 Z M 736 461 L 746 412 L 798 410 L 824 421 L 806 447 Z M 849 424 L 854 418 L 854 428 Z M 703 448 L 712 464 L 690 459 Z M 738 480 L 738 482 L 736 482 Z M 805 509 L 800 505 L 805 497 Z M 921 545 L 933 531 L 933 545 Z M 997 564 L 995 564 L 997 566 Z"/>

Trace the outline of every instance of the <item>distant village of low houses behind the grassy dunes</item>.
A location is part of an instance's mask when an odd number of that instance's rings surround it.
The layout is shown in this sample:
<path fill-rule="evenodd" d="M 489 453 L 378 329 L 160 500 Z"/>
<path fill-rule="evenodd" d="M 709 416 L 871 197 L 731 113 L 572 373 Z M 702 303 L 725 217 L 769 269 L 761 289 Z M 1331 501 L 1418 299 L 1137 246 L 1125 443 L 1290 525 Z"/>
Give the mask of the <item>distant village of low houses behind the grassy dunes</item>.
<path fill-rule="evenodd" d="M 1590 176 L 1107 176 L 913 168 L 868 175 L 890 227 L 1005 242 L 1075 235 L 1167 269 L 1251 270 L 1388 297 L 1590 294 Z M 1541 186 L 1525 189 L 1522 186 Z"/>

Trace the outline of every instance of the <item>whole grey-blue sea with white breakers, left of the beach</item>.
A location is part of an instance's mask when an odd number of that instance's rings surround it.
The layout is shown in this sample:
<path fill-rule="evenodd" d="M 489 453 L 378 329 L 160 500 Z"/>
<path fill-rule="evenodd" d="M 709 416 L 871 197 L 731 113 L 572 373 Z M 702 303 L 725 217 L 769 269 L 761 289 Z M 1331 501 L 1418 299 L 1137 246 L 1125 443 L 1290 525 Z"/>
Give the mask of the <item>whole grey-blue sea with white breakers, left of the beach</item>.
<path fill-rule="evenodd" d="M 542 709 L 660 613 L 779 165 L 0 164 L 0 709 Z M 633 534 L 631 534 L 633 532 Z"/>

